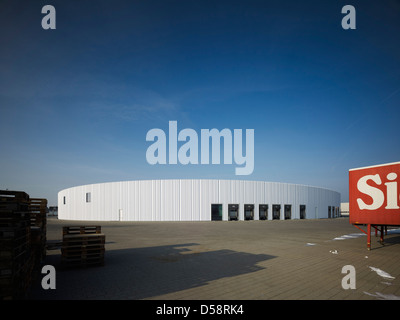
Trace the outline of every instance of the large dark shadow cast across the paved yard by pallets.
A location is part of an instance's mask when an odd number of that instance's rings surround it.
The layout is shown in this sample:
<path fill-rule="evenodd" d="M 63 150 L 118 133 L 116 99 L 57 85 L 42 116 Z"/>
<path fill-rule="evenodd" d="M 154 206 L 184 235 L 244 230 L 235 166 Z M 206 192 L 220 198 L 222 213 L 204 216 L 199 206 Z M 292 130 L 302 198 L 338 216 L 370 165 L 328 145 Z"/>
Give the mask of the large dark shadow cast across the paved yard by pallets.
<path fill-rule="evenodd" d="M 66 269 L 60 254 L 53 252 L 44 263 L 56 268 L 56 289 L 42 289 L 39 279 L 28 299 L 146 299 L 256 272 L 264 269 L 258 263 L 272 258 L 225 249 L 199 251 L 198 244 L 184 243 L 106 249 L 104 266 Z"/>

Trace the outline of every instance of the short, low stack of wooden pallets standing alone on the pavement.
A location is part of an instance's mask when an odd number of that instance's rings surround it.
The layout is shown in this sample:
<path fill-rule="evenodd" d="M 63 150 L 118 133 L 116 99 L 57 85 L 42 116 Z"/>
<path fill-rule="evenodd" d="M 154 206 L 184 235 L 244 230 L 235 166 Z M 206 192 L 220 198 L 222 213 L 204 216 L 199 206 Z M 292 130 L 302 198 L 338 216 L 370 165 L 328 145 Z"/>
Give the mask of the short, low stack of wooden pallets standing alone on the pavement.
<path fill-rule="evenodd" d="M 104 265 L 104 245 L 101 226 L 63 227 L 61 262 L 66 267 Z"/>

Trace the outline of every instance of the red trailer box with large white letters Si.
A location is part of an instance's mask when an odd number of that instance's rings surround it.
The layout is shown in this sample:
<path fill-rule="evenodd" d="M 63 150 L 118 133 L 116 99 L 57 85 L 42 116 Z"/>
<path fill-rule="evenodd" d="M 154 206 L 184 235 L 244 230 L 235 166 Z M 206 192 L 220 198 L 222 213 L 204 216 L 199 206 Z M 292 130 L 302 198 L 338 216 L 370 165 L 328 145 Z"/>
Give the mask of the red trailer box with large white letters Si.
<path fill-rule="evenodd" d="M 400 162 L 349 170 L 352 224 L 400 225 Z"/>

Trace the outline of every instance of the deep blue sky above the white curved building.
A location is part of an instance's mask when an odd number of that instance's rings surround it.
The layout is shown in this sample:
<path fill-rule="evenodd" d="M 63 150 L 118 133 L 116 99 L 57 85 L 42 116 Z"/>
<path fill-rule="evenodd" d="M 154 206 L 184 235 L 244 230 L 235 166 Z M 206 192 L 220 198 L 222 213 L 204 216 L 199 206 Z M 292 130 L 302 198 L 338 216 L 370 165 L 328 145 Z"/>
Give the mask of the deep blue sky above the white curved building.
<path fill-rule="evenodd" d="M 400 160 L 399 34 L 395 0 L 2 1 L 0 188 L 56 205 L 82 184 L 239 178 L 347 201 L 349 169 Z M 146 133 L 170 120 L 254 129 L 253 173 L 149 165 Z"/>

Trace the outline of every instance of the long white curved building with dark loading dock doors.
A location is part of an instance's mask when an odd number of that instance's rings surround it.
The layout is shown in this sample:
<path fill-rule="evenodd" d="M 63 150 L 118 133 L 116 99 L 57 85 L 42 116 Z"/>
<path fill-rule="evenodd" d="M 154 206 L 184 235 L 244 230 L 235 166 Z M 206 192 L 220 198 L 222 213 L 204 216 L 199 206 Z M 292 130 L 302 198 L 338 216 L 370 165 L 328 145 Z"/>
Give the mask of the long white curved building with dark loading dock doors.
<path fill-rule="evenodd" d="M 305 185 L 243 180 L 140 180 L 58 193 L 58 218 L 93 221 L 318 219 L 339 216 L 340 194 Z"/>

